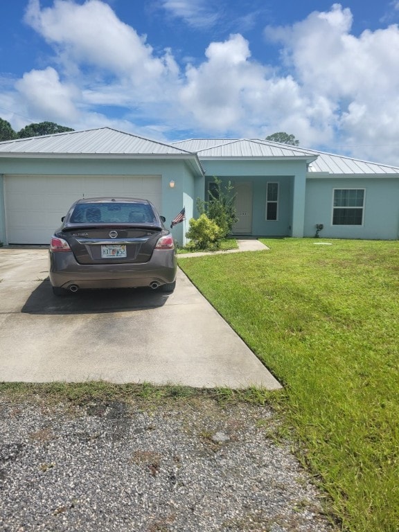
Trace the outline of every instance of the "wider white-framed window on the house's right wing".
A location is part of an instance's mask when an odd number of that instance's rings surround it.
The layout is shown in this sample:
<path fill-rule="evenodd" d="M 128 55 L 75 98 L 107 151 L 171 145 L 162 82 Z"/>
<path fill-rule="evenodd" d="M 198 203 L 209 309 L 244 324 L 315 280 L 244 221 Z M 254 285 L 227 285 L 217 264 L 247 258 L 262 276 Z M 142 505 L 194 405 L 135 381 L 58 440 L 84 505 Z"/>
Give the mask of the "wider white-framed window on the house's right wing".
<path fill-rule="evenodd" d="M 362 225 L 364 188 L 335 188 L 332 225 Z"/>

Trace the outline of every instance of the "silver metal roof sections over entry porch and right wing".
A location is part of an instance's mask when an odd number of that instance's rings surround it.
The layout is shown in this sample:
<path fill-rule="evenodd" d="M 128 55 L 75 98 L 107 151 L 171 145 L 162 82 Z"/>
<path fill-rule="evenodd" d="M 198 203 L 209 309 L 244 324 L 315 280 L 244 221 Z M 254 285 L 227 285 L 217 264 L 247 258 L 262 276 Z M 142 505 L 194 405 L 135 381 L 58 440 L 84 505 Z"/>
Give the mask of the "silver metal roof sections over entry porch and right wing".
<path fill-rule="evenodd" d="M 173 143 L 184 150 L 197 152 L 201 159 L 234 157 L 305 157 L 308 175 L 398 175 L 399 168 L 343 155 L 300 149 L 296 146 L 263 139 L 189 139 Z M 260 147 L 261 146 L 261 147 Z"/>

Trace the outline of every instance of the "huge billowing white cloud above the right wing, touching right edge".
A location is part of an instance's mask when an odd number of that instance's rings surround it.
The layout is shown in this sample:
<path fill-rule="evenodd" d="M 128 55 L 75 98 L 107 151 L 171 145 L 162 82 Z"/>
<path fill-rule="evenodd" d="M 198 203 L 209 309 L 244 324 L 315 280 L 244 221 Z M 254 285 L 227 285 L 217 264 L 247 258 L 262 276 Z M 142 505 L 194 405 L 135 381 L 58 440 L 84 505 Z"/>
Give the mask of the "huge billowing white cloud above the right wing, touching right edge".
<path fill-rule="evenodd" d="M 291 28 L 267 28 L 266 35 L 283 44 L 285 65 L 310 107 L 319 98 L 326 101 L 341 145 L 346 143 L 357 157 L 370 157 L 374 145 L 371 157 L 391 152 L 389 158 L 399 163 L 392 147 L 382 149 L 388 137 L 399 135 L 399 28 L 366 30 L 355 37 L 351 25 L 351 11 L 335 4 L 330 12 L 314 12 Z M 315 139 L 308 132 L 303 140 Z"/>

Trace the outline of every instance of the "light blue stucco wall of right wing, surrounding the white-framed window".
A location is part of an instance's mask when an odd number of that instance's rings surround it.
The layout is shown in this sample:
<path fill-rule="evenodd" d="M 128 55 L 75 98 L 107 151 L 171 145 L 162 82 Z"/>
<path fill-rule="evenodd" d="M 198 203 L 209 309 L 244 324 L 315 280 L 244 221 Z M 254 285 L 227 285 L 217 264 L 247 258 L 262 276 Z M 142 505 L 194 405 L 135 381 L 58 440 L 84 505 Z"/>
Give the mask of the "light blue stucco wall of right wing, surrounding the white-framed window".
<path fill-rule="evenodd" d="M 364 224 L 332 225 L 334 188 L 364 188 Z M 396 240 L 399 234 L 399 178 L 310 178 L 306 184 L 305 236 L 314 236 L 323 224 L 321 238 Z"/>

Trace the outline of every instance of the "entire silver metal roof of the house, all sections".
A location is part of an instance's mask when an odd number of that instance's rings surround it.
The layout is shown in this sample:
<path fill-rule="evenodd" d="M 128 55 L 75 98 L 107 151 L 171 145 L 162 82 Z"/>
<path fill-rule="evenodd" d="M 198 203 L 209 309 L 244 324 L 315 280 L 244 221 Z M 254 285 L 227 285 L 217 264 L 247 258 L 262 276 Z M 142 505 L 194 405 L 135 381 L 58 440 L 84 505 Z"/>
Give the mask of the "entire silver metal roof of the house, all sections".
<path fill-rule="evenodd" d="M 205 159 L 305 159 L 308 175 L 399 175 L 399 168 L 263 139 L 188 139 L 172 144 L 100 127 L 0 142 L 0 157 L 178 157 L 202 172 Z"/>

